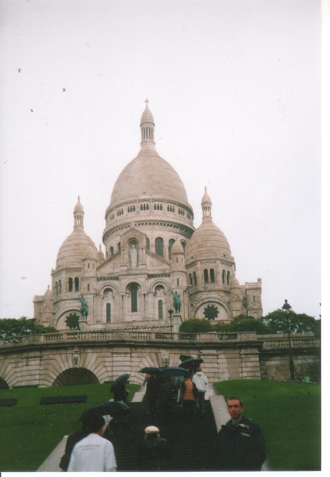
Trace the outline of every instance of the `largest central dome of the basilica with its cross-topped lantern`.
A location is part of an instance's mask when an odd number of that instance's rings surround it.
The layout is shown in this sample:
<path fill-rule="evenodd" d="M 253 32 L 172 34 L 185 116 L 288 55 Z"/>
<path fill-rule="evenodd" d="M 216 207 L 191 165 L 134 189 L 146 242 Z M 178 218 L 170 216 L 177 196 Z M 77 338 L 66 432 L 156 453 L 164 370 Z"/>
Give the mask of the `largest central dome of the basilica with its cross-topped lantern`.
<path fill-rule="evenodd" d="M 140 152 L 118 176 L 111 195 L 111 208 L 139 198 L 164 198 L 190 207 L 180 177 L 155 150 L 153 121 L 146 106 L 140 124 Z"/>

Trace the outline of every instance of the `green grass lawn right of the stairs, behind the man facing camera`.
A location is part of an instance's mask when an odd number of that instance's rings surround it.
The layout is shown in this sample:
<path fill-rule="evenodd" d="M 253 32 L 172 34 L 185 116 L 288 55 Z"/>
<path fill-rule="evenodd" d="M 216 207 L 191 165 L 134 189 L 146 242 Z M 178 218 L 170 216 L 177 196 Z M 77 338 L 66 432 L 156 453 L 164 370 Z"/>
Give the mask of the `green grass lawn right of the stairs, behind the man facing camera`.
<path fill-rule="evenodd" d="M 243 401 L 244 415 L 262 429 L 274 470 L 320 470 L 320 385 L 233 380 L 214 388 Z"/>

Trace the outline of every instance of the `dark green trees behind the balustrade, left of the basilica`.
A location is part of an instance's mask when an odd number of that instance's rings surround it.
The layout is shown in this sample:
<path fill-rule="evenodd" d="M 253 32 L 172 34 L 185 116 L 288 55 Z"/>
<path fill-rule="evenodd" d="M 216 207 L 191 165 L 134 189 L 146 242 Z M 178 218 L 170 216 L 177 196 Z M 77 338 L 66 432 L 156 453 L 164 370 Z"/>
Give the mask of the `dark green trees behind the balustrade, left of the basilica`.
<path fill-rule="evenodd" d="M 0 338 L 56 332 L 56 328 L 37 324 L 35 318 L 28 319 L 26 316 L 22 316 L 18 320 L 15 318 L 2 318 L 0 320 Z"/>

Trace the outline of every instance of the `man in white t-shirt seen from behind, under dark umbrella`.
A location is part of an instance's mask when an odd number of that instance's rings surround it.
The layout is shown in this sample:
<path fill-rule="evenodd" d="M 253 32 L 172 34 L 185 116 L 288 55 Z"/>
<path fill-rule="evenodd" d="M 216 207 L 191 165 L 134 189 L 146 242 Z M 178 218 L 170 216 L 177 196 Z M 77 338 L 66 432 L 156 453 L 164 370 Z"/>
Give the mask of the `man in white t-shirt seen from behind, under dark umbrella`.
<path fill-rule="evenodd" d="M 93 416 L 86 422 L 89 435 L 79 441 L 71 454 L 68 472 L 115 472 L 113 445 L 101 437 L 104 418 Z"/>

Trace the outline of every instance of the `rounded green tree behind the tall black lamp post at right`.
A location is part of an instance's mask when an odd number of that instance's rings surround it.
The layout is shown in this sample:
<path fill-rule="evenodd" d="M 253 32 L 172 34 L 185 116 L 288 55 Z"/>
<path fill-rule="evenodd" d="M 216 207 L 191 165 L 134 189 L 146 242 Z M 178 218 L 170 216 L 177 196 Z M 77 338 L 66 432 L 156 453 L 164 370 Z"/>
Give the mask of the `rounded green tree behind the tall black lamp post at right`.
<path fill-rule="evenodd" d="M 320 320 L 305 313 L 294 311 L 275 310 L 263 318 L 263 322 L 271 333 L 313 333 L 318 332 Z"/>

